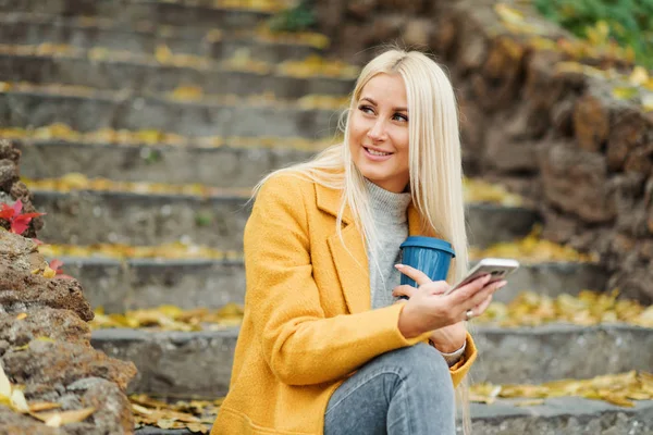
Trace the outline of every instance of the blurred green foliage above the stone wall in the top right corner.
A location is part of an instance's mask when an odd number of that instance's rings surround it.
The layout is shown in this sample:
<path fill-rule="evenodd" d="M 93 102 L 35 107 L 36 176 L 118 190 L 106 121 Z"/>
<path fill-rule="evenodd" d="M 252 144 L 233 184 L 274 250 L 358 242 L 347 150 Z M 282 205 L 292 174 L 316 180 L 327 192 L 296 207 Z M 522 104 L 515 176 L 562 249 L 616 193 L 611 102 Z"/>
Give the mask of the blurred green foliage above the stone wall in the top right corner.
<path fill-rule="evenodd" d="M 581 38 L 631 47 L 636 63 L 653 69 L 653 0 L 533 0 L 547 18 Z"/>

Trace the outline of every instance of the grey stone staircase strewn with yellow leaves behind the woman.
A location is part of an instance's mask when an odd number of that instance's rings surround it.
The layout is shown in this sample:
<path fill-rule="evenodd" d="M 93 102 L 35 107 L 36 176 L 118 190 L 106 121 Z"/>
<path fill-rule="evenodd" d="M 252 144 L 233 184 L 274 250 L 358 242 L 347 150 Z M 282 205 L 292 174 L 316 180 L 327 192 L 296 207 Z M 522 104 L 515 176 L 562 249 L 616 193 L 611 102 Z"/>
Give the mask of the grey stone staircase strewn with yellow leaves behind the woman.
<path fill-rule="evenodd" d="M 34 203 L 48 213 L 39 238 L 77 246 L 183 240 L 215 250 L 195 259 L 59 257 L 91 304 L 107 312 L 242 303 L 248 188 L 269 171 L 312 156 L 319 146 L 310 144 L 335 134 L 337 112 L 310 108 L 301 98 L 345 98 L 353 88 L 350 73 L 295 74 L 283 67 L 323 48 L 266 37 L 259 25 L 279 2 L 258 2 L 262 10 L 248 9 L 254 1 L 242 8 L 217 3 L 0 0 L 0 135 L 23 132 L 24 177 L 82 173 L 188 186 L 175 194 L 37 189 Z M 175 99 L 175 90 L 184 88 L 201 94 Z M 261 95 L 268 97 L 256 98 Z M 70 130 L 58 135 L 57 124 Z M 108 128 L 146 133 L 135 144 L 107 135 L 89 139 Z M 468 221 L 471 244 L 482 248 L 526 236 L 538 215 L 469 203 Z M 522 289 L 550 296 L 603 290 L 604 283 L 605 272 L 594 264 L 525 263 L 495 300 L 509 301 Z M 100 330 L 93 345 L 135 362 L 133 391 L 217 398 L 227 391 L 237 334 L 237 328 Z M 473 382 L 539 383 L 653 366 L 653 333 L 630 325 L 478 326 L 475 337 L 480 358 Z M 627 409 L 580 398 L 532 407 L 498 400 L 472 403 L 472 419 L 475 434 L 652 434 L 653 402 Z"/>

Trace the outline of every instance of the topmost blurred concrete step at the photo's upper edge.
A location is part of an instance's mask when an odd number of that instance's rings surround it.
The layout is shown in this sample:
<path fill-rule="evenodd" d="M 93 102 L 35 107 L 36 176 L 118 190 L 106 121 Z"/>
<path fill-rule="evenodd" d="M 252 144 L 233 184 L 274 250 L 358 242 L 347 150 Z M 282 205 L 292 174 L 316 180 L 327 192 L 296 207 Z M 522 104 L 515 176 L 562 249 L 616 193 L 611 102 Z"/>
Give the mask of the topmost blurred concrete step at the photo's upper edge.
<path fill-rule="evenodd" d="M 91 16 L 115 20 L 126 25 L 149 21 L 164 25 L 196 27 L 255 27 L 271 16 L 272 11 L 215 8 L 212 0 L 0 0 L 1 12 L 35 12 L 54 16 Z"/>

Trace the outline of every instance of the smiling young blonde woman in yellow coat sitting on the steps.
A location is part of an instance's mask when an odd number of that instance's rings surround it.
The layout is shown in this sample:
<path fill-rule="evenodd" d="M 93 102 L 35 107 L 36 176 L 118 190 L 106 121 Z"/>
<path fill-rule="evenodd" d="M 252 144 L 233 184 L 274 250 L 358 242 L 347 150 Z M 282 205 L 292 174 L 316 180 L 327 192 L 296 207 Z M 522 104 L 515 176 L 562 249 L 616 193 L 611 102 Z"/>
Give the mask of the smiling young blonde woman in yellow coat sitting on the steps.
<path fill-rule="evenodd" d="M 362 70 L 344 129 L 259 184 L 213 435 L 455 433 L 454 387 L 476 358 L 465 321 L 505 282 L 443 296 L 445 281 L 395 265 L 405 238 L 426 235 L 452 243 L 449 282 L 467 271 L 452 86 L 427 55 L 386 51 Z"/>

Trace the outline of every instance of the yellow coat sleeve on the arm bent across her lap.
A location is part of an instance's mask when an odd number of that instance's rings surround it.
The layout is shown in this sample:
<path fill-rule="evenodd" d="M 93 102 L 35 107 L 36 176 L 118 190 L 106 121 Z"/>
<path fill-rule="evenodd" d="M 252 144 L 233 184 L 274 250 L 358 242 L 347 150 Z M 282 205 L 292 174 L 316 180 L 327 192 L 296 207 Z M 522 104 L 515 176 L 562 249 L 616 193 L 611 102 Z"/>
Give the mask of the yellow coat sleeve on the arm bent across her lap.
<path fill-rule="evenodd" d="M 370 359 L 429 335 L 403 336 L 398 330 L 403 303 L 325 318 L 312 278 L 308 194 L 301 185 L 306 182 L 293 176 L 269 179 L 259 191 L 244 240 L 245 309 L 264 360 L 288 385 L 342 378 Z"/>

